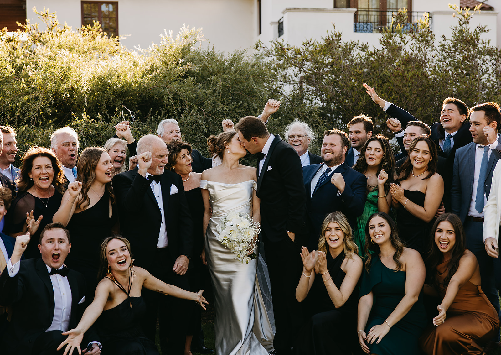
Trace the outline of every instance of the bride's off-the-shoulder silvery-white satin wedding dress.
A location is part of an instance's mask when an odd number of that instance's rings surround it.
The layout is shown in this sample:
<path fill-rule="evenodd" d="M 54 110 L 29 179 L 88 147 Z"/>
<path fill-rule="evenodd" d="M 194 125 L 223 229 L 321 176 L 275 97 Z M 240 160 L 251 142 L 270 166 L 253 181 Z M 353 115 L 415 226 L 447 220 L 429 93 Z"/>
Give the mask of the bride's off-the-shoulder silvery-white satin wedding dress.
<path fill-rule="evenodd" d="M 217 355 L 267 355 L 273 350 L 273 318 L 270 321 L 269 317 L 271 306 L 265 305 L 262 294 L 262 290 L 269 290 L 269 287 L 263 285 L 264 277 L 257 277 L 258 263 L 260 271 L 266 268 L 266 264 L 260 257 L 242 265 L 217 240 L 217 226 L 228 212 L 252 215 L 256 187 L 255 181 L 223 184 L 200 180 L 200 188 L 209 192 L 212 208 L 205 234 L 205 257 L 214 292 Z"/>

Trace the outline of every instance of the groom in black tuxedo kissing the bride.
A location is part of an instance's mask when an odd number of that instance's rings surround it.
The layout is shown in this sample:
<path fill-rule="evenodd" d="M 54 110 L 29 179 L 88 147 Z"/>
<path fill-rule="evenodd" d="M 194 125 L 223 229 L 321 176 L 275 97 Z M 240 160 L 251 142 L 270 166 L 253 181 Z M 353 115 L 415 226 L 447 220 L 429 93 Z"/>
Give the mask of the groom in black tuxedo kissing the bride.
<path fill-rule="evenodd" d="M 295 296 L 303 267 L 299 254 L 305 233 L 306 193 L 301 160 L 290 144 L 270 134 L 257 117 L 243 117 L 235 129 L 245 149 L 262 155 L 257 196 L 261 199 L 261 232 L 277 328 L 273 344 L 277 354 L 287 354 L 291 353 L 301 324 Z"/>

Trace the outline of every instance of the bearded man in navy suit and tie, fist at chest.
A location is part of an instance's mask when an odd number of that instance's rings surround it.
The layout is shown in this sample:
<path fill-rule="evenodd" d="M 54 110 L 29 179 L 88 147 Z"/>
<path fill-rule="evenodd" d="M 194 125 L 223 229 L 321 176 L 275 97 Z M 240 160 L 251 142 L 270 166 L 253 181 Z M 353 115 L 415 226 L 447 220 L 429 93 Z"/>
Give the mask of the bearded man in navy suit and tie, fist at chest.
<path fill-rule="evenodd" d="M 303 168 L 308 194 L 309 250 L 318 249 L 320 228 L 329 213 L 341 211 L 353 227 L 364 212 L 367 178 L 346 164 L 347 150 L 346 133 L 338 129 L 327 130 L 321 149 L 323 162 Z"/>

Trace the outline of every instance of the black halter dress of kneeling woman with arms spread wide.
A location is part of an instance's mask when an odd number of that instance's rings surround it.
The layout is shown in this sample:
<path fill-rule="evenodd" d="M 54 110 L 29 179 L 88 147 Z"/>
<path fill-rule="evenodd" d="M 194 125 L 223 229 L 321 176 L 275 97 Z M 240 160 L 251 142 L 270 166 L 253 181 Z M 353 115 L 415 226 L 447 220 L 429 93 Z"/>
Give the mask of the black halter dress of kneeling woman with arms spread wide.
<path fill-rule="evenodd" d="M 142 329 L 146 313 L 143 297 L 128 297 L 118 306 L 104 310 L 96 321 L 99 339 L 109 355 L 158 355 L 153 341 Z"/>

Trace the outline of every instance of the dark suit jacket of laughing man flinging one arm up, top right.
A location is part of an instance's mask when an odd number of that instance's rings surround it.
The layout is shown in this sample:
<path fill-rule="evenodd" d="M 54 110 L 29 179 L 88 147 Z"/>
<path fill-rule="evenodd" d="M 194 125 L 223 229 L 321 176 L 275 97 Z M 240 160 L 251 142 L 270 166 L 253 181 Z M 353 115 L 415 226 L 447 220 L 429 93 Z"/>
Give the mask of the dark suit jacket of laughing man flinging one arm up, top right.
<path fill-rule="evenodd" d="M 409 112 L 393 104 L 391 104 L 390 107 L 388 107 L 386 113 L 400 120 L 402 126 L 406 125 L 409 121 L 416 120 L 416 118 Z M 459 128 L 459 130 L 453 136 L 454 146 L 452 147 L 449 156 L 446 157 L 444 156 L 442 148 L 440 148 L 440 145 L 438 144 L 440 139 L 445 138 L 445 129 L 443 128 L 440 122 L 433 123 L 430 126 L 430 129 L 431 129 L 430 138 L 435 142 L 438 155 L 446 158 L 440 173 L 440 175 L 443 178 L 443 185 L 444 185 L 444 194 L 442 202 L 445 207 L 445 212 L 451 212 L 452 206 L 450 201 L 450 190 L 452 188 L 452 171 L 454 168 L 454 156 L 458 148 L 472 142 L 473 138 L 471 137 L 471 133 L 469 131 L 469 125 L 466 123 L 466 121 L 463 122 L 461 128 Z"/>

